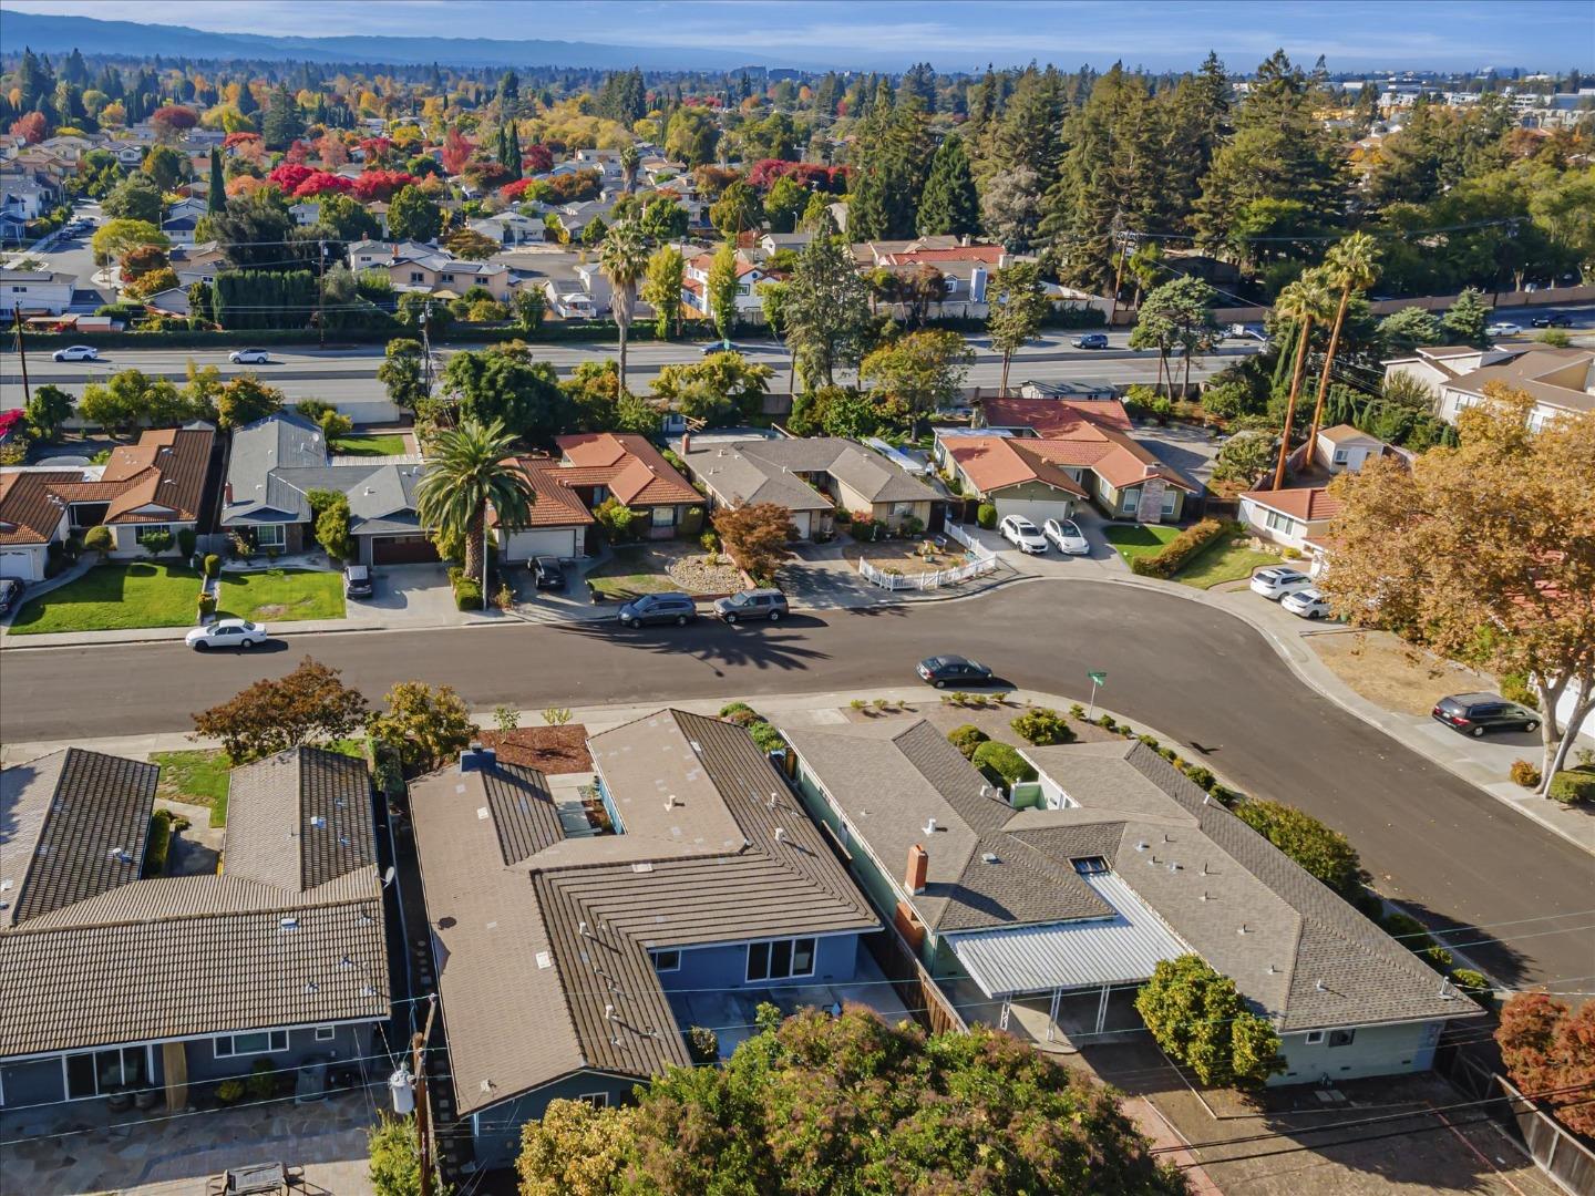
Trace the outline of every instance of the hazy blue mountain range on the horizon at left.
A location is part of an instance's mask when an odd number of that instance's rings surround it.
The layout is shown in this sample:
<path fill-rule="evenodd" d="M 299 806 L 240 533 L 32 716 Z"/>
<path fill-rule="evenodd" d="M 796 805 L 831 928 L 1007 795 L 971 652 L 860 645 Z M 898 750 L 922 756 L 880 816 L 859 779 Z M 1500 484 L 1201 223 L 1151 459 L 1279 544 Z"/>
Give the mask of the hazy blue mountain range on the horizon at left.
<path fill-rule="evenodd" d="M 373 13 L 380 11 L 373 5 Z M 557 10 L 550 10 L 557 11 Z M 439 62 L 450 67 L 589 67 L 597 70 L 737 70 L 769 64 L 738 54 L 675 46 L 609 46 L 597 41 L 498 41 L 485 37 L 265 37 L 212 33 L 188 26 L 96 21 L 86 16 L 48 16 L 8 11 L 0 18 L 8 53 L 30 46 L 38 53 L 126 54 L 131 57 L 209 57 L 293 62 Z"/>

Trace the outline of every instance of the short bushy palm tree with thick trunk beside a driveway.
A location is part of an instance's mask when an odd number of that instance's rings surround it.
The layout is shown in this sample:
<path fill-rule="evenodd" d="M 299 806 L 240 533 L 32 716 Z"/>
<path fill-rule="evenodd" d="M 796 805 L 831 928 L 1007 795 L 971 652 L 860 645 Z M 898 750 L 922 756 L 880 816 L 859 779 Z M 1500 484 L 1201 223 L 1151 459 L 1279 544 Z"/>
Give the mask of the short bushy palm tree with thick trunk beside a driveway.
<path fill-rule="evenodd" d="M 514 443 L 502 419 L 491 424 L 466 419 L 459 427 L 440 431 L 431 445 L 426 477 L 415 488 L 421 523 L 464 539 L 466 577 L 482 577 L 483 603 L 488 596 L 483 544 L 488 507 L 504 528 L 522 526 L 531 517 L 531 483 L 512 461 Z"/>

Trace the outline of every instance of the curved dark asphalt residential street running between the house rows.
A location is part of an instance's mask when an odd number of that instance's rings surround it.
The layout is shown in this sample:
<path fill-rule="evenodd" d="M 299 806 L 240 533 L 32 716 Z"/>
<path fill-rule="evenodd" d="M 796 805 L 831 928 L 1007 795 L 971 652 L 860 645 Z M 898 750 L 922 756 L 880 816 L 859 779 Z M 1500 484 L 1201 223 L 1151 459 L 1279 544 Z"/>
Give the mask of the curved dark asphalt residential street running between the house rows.
<path fill-rule="evenodd" d="M 1595 987 L 1595 861 L 1308 689 L 1247 624 L 1172 595 L 1026 582 L 952 603 L 826 611 L 778 627 L 514 625 L 306 636 L 203 657 L 175 643 L 8 649 L 0 738 L 183 730 L 191 711 L 305 655 L 376 697 L 418 678 L 478 710 L 756 697 L 904 684 L 933 652 L 1005 683 L 1102 702 L 1191 745 L 1247 793 L 1343 831 L 1386 896 L 1512 986 Z M 927 700 L 931 690 L 927 689 Z M 1480 927 L 1482 930 L 1474 930 Z"/>

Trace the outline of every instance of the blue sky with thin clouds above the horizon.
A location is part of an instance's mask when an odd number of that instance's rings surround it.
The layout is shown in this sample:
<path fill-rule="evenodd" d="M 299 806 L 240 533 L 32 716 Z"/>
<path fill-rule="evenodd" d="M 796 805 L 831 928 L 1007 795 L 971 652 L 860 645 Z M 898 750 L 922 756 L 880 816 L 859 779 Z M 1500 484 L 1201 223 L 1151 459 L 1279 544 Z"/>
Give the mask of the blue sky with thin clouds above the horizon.
<path fill-rule="evenodd" d="M 558 38 L 743 53 L 750 62 L 943 70 L 1056 62 L 1153 70 L 1209 48 L 1249 70 L 1282 46 L 1330 70 L 1595 70 L 1592 0 L 3 0 L 30 13 L 234 33 Z"/>

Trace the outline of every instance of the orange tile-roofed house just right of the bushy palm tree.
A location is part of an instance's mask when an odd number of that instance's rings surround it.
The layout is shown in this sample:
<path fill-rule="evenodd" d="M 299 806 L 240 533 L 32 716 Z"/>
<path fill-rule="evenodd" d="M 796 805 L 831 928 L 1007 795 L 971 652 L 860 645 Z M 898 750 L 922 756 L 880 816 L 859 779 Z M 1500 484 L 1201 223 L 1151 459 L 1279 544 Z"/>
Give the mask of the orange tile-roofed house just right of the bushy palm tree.
<path fill-rule="evenodd" d="M 582 432 L 555 439 L 560 456 L 515 458 L 536 501 L 525 528 L 498 528 L 504 560 L 573 560 L 585 555 L 592 512 L 608 499 L 646 512 L 648 537 L 670 539 L 702 526 L 705 499 L 648 437 L 635 432 Z M 691 512 L 699 512 L 697 523 Z"/>

